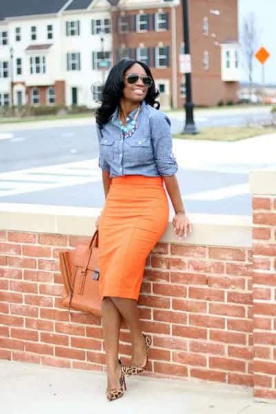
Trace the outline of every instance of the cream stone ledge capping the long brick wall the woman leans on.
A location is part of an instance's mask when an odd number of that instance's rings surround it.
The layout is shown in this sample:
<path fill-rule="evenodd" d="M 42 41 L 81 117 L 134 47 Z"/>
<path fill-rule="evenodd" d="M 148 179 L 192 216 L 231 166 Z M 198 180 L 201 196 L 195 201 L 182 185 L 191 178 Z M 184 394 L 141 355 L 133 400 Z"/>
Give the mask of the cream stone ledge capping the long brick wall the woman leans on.
<path fill-rule="evenodd" d="M 90 236 L 101 208 L 0 204 L 2 230 Z M 172 217 L 159 242 L 205 246 L 252 246 L 252 217 L 239 215 L 189 214 L 193 232 L 178 239 Z"/>

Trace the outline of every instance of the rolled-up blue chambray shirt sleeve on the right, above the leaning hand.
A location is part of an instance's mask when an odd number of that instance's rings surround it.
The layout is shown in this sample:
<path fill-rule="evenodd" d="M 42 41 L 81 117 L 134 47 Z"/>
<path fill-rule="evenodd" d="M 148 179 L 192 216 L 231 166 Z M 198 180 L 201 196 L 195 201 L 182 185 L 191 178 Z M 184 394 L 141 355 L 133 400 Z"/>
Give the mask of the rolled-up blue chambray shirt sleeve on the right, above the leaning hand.
<path fill-rule="evenodd" d="M 172 153 L 170 119 L 164 112 L 157 112 L 154 117 L 150 117 L 150 133 L 157 170 L 160 175 L 175 175 L 178 166 Z"/>

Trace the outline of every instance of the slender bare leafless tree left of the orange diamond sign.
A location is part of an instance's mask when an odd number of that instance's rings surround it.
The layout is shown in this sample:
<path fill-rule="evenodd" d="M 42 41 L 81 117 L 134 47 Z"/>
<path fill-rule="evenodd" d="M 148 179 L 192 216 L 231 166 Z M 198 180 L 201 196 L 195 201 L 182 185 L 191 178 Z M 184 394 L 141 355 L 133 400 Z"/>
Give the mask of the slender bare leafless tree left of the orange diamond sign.
<path fill-rule="evenodd" d="M 249 96 L 252 95 L 253 83 L 253 63 L 255 52 L 257 52 L 257 43 L 260 37 L 260 30 L 257 24 L 254 12 L 249 12 L 242 23 L 242 53 L 246 62 L 246 71 L 249 80 Z"/>

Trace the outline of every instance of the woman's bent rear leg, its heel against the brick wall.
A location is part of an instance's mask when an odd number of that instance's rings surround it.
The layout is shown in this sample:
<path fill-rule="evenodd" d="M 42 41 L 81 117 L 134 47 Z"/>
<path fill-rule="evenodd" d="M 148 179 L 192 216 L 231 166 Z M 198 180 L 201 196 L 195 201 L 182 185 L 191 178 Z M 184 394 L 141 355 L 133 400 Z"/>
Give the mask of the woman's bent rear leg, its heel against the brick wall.
<path fill-rule="evenodd" d="M 111 299 L 130 328 L 132 339 L 131 364 L 144 366 L 146 364 L 146 344 L 141 331 L 137 301 L 123 297 L 111 297 Z"/>

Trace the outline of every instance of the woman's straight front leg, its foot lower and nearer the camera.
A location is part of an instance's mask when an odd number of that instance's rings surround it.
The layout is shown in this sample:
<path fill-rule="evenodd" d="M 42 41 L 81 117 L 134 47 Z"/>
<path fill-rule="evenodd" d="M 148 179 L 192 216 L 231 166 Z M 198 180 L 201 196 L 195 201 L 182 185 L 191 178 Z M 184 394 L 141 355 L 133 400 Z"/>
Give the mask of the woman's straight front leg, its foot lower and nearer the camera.
<path fill-rule="evenodd" d="M 106 349 L 106 368 L 108 374 L 107 391 L 119 388 L 121 368 L 118 364 L 119 333 L 121 314 L 110 297 L 103 297 L 101 302 L 103 340 Z"/>

